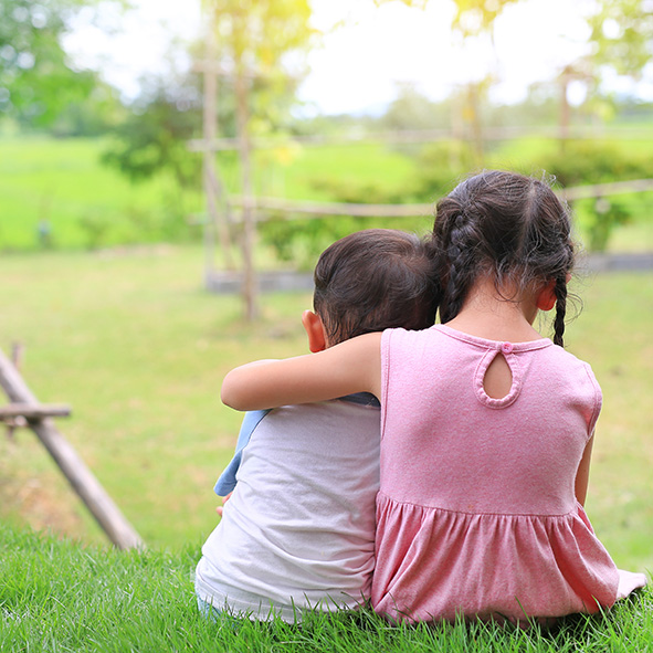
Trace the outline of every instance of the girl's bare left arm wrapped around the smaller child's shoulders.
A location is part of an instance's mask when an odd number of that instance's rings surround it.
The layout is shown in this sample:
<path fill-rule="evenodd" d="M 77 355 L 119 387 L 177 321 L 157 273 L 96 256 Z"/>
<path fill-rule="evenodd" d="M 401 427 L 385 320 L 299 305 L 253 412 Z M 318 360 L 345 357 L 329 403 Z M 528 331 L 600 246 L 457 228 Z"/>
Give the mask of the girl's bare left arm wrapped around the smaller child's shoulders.
<path fill-rule="evenodd" d="M 260 410 L 309 403 L 352 392 L 381 392 L 381 334 L 366 334 L 317 354 L 252 362 L 222 382 L 223 403 Z"/>

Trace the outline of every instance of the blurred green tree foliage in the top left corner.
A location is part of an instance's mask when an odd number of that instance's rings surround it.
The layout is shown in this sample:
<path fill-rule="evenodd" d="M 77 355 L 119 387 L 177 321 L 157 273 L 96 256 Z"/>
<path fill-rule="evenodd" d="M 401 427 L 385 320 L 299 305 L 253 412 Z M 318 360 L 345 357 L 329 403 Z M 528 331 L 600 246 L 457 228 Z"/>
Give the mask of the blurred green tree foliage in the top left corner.
<path fill-rule="evenodd" d="M 88 97 L 95 76 L 76 71 L 61 45 L 82 0 L 0 0 L 0 112 L 23 125 L 49 126 Z"/>

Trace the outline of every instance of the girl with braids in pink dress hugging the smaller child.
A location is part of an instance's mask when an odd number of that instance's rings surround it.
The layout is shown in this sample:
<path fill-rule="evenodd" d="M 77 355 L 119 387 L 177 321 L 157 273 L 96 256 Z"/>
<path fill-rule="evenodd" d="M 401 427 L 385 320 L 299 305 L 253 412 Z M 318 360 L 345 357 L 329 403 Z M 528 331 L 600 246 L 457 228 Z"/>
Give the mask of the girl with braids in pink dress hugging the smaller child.
<path fill-rule="evenodd" d="M 617 569 L 582 507 L 601 390 L 564 349 L 570 229 L 546 183 L 472 177 L 438 204 L 443 324 L 224 379 L 222 399 L 239 410 L 379 398 L 379 613 L 518 622 L 596 612 L 645 584 Z M 554 307 L 551 341 L 533 324 Z"/>

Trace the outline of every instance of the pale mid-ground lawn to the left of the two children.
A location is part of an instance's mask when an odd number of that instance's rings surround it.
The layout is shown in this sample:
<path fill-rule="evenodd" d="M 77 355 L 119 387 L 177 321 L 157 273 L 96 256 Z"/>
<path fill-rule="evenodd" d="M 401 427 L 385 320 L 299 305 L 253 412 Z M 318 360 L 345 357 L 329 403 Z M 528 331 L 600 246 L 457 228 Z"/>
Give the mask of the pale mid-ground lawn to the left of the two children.
<path fill-rule="evenodd" d="M 196 249 L 0 261 L 4 350 L 22 340 L 36 396 L 73 406 L 61 430 L 150 544 L 215 523 L 211 488 L 240 422 L 219 401 L 224 373 L 253 351 L 304 350 L 307 295 L 270 297 L 263 322 L 245 325 L 236 297 L 202 291 L 201 264 Z M 0 451 L 2 513 L 101 537 L 30 432 L 0 439 Z"/>

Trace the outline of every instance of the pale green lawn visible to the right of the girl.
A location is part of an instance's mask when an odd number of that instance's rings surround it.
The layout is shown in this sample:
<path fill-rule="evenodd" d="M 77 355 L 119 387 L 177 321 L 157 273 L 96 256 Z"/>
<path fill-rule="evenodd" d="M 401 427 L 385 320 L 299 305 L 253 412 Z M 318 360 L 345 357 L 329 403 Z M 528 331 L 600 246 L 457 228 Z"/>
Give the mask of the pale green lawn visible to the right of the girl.
<path fill-rule="evenodd" d="M 601 274 L 578 288 L 570 350 L 588 360 L 603 390 L 588 510 L 621 566 L 653 570 L 650 399 L 653 392 L 653 273 Z M 628 481 L 626 481 L 628 478 Z"/>

